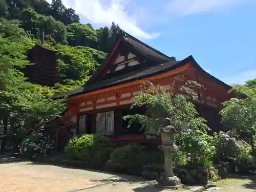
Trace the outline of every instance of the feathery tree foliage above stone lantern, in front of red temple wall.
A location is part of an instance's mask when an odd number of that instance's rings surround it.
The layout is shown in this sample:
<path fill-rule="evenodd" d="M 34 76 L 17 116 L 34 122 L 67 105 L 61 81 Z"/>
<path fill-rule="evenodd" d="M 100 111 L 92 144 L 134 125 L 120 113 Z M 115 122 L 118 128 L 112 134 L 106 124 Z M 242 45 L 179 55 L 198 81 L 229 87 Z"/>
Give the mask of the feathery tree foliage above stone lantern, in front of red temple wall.
<path fill-rule="evenodd" d="M 135 104 L 132 108 L 147 106 L 146 112 L 144 115 L 125 116 L 124 119 L 129 120 L 129 126 L 133 122 L 140 122 L 142 129 L 145 129 L 145 134 L 154 135 L 163 126 L 164 119 L 168 117 L 176 128 L 180 128 L 185 123 L 195 129 L 200 127 L 204 133 L 209 130 L 209 127 L 204 124 L 205 120 L 198 117 L 195 105 L 187 100 L 187 97 L 194 96 L 193 93 L 186 92 L 185 95 L 172 96 L 171 89 L 155 87 L 150 82 L 146 82 L 143 86 L 142 93 L 133 98 Z M 184 87 L 182 89 L 184 90 Z"/>

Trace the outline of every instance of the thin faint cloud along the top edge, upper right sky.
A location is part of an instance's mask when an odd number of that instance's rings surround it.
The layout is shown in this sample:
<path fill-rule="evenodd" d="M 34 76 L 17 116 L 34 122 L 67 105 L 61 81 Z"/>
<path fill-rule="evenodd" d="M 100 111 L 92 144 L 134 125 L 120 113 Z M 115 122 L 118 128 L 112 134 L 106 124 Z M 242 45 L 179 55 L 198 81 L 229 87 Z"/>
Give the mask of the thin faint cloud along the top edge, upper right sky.
<path fill-rule="evenodd" d="M 188 15 L 209 11 L 220 11 L 250 0 L 170 0 L 168 11 L 172 14 Z"/>

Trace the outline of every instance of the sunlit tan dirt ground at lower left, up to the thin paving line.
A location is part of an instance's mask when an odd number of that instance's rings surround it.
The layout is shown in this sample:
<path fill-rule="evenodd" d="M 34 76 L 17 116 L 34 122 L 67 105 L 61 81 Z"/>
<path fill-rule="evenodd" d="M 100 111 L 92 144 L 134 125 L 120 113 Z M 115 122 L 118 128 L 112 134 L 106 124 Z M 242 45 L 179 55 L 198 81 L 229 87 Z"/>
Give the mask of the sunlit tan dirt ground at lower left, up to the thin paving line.
<path fill-rule="evenodd" d="M 32 162 L 0 164 L 0 191 L 65 192 L 120 181 L 115 175 Z"/>

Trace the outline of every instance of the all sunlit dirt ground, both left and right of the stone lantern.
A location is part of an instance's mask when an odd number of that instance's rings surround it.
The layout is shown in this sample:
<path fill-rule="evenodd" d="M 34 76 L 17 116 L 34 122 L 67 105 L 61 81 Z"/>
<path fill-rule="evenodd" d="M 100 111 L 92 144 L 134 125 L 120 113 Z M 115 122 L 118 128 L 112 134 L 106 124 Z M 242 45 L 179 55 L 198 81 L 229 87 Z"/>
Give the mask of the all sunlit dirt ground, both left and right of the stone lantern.
<path fill-rule="evenodd" d="M 0 191 L 10 192 L 160 192 L 155 182 L 131 176 L 116 176 L 90 170 L 32 162 L 0 164 Z M 256 192 L 256 175 L 217 182 L 214 192 Z M 188 189 L 188 188 L 186 188 Z M 179 191 L 185 191 L 181 189 Z"/>

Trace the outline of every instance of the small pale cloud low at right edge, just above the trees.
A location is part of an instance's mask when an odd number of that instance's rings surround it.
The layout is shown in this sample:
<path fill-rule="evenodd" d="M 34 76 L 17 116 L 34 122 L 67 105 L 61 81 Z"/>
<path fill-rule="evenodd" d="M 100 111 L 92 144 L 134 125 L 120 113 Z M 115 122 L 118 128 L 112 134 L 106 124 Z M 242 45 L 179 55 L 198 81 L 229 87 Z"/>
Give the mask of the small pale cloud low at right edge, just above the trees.
<path fill-rule="evenodd" d="M 243 84 L 247 80 L 256 78 L 256 69 L 245 71 L 237 75 L 224 77 L 223 80 L 227 84 Z"/>

